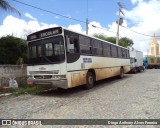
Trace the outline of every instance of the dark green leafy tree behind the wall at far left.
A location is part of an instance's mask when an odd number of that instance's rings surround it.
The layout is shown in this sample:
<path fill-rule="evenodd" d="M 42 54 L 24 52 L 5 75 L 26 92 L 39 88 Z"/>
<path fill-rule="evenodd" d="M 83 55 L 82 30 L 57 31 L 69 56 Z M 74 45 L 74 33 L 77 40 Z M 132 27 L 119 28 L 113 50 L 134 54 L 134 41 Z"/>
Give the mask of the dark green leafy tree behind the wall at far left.
<path fill-rule="evenodd" d="M 23 39 L 6 36 L 0 38 L 0 64 L 16 64 L 19 57 L 27 63 L 27 42 Z"/>

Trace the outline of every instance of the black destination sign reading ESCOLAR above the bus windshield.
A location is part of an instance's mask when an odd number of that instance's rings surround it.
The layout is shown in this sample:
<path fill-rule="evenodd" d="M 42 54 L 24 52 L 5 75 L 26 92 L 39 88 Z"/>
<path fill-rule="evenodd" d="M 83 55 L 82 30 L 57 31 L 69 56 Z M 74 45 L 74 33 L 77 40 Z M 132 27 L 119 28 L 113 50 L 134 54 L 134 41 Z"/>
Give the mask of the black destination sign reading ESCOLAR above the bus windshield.
<path fill-rule="evenodd" d="M 36 40 L 36 39 L 45 38 L 45 37 L 49 37 L 49 36 L 53 36 L 61 33 L 62 33 L 61 27 L 51 28 L 51 29 L 42 30 L 42 31 L 33 33 L 28 36 L 27 40 L 28 41 Z"/>

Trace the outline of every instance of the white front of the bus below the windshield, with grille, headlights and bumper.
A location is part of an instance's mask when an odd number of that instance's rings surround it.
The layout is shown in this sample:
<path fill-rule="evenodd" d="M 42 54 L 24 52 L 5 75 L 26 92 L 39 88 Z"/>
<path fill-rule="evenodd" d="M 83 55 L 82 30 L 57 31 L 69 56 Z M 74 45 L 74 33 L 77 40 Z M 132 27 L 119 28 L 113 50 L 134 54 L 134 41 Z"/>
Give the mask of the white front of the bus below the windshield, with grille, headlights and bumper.
<path fill-rule="evenodd" d="M 51 85 L 67 89 L 66 63 L 27 66 L 28 84 Z"/>

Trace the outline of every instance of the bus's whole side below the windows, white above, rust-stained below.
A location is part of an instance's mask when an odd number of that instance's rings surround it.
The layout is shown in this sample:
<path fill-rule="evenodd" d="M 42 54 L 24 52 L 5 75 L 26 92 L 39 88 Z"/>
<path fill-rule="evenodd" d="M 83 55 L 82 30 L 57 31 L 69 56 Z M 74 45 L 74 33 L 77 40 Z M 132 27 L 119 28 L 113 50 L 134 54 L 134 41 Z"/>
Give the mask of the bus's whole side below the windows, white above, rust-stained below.
<path fill-rule="evenodd" d="M 120 75 L 123 67 L 124 73 L 130 71 L 130 60 L 109 57 L 83 56 L 74 63 L 67 63 L 68 87 L 86 84 L 89 69 L 95 70 L 96 81 Z"/>

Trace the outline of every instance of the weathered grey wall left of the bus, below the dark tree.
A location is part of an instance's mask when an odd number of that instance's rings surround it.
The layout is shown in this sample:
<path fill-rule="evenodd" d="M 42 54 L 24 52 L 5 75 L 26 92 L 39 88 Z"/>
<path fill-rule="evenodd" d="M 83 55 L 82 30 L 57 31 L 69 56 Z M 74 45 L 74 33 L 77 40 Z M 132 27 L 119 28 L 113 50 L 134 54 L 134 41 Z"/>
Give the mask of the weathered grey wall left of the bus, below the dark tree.
<path fill-rule="evenodd" d="M 19 85 L 26 84 L 27 65 L 0 65 L 0 87 L 8 86 L 9 78 L 15 78 Z"/>

